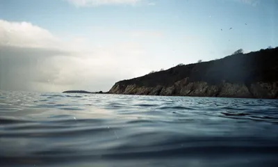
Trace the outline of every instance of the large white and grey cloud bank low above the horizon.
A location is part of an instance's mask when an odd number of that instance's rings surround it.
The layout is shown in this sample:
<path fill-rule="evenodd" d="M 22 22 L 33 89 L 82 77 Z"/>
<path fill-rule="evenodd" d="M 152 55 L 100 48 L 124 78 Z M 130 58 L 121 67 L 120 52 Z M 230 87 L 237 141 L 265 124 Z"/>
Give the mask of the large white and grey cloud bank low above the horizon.
<path fill-rule="evenodd" d="M 115 81 L 145 74 L 144 56 L 136 42 L 95 47 L 80 36 L 63 40 L 28 22 L 0 20 L 3 90 L 106 91 Z"/>

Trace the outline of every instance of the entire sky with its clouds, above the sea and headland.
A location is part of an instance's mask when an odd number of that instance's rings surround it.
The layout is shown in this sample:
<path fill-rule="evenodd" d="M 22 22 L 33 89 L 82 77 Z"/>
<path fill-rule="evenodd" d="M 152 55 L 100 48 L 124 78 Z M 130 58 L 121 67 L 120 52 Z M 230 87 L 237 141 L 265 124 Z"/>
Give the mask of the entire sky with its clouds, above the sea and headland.
<path fill-rule="evenodd" d="M 0 0 L 0 90 L 108 91 L 278 46 L 277 0 Z"/>

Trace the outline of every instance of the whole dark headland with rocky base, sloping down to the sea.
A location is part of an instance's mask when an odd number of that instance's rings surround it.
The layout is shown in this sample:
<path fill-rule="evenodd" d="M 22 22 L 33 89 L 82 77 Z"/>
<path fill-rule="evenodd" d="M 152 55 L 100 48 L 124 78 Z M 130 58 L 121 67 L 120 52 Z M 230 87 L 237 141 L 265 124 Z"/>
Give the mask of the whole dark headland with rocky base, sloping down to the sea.
<path fill-rule="evenodd" d="M 177 65 L 118 81 L 108 93 L 277 99 L 278 47 L 215 61 Z"/>

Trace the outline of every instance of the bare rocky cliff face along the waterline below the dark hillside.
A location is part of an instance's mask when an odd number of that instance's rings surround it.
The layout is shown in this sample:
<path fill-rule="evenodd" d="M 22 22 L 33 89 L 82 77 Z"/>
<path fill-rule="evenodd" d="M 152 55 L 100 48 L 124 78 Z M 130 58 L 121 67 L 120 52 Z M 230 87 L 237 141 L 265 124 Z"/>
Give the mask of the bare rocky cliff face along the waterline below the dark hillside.
<path fill-rule="evenodd" d="M 109 90 L 111 94 L 124 95 L 161 95 L 161 96 L 192 96 L 192 97 L 240 97 L 277 99 L 278 82 L 254 83 L 251 86 L 245 84 L 231 84 L 223 81 L 220 85 L 210 85 L 204 81 L 186 82 L 186 79 L 177 81 L 173 86 L 145 87 L 122 85 L 117 83 Z"/>

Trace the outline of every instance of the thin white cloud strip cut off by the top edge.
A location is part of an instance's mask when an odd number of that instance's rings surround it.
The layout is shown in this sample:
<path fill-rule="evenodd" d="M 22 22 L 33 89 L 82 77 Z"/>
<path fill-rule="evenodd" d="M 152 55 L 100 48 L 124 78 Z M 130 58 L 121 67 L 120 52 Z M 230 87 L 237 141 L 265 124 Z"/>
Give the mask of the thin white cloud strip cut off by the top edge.
<path fill-rule="evenodd" d="M 142 0 L 67 0 L 77 7 L 104 5 L 136 5 Z"/>

